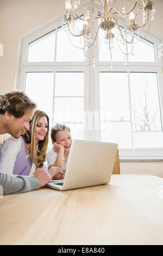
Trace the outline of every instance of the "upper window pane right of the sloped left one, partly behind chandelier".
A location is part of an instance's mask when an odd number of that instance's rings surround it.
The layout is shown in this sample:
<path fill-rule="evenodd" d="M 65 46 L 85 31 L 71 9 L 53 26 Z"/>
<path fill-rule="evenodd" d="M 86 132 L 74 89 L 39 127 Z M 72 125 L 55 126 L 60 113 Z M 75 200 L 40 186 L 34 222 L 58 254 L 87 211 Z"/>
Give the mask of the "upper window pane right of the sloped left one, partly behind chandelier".
<path fill-rule="evenodd" d="M 82 22 L 77 21 L 75 24 L 80 32 L 83 29 L 81 27 Z M 70 33 L 67 33 L 67 28 L 58 28 L 56 61 L 83 61 L 83 50 L 74 47 L 74 45 L 83 47 L 83 45 L 80 44 L 79 37 L 73 37 Z"/>

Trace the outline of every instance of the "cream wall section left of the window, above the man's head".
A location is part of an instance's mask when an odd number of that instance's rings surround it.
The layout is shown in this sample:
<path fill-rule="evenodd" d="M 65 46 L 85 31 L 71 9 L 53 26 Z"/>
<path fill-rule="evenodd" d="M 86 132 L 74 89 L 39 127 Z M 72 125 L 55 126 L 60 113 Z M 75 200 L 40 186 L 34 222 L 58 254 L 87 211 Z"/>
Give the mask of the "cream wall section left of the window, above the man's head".
<path fill-rule="evenodd" d="M 18 42 L 30 29 L 65 12 L 65 0 L 17 0 L 0 8 L 0 92 L 14 90 Z"/>

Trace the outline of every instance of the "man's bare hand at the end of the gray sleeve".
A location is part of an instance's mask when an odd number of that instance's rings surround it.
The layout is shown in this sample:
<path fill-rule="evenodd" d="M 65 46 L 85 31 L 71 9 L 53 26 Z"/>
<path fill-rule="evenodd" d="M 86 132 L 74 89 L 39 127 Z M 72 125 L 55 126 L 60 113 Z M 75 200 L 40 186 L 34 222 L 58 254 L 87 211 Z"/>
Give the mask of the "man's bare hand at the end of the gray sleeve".
<path fill-rule="evenodd" d="M 45 186 L 47 183 L 52 181 L 51 175 L 46 170 L 43 170 L 41 168 L 38 168 L 34 172 L 34 176 L 37 178 L 37 180 L 40 183 L 40 188 Z"/>

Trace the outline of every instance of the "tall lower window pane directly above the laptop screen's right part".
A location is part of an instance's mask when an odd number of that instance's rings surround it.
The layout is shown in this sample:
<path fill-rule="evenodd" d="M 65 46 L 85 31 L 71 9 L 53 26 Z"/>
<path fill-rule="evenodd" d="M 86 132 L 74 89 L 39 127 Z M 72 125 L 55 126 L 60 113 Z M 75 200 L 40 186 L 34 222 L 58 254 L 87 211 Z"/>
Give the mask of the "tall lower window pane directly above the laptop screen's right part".
<path fill-rule="evenodd" d="M 131 148 L 128 75 L 101 72 L 99 77 L 101 140 L 116 142 L 119 148 Z"/>

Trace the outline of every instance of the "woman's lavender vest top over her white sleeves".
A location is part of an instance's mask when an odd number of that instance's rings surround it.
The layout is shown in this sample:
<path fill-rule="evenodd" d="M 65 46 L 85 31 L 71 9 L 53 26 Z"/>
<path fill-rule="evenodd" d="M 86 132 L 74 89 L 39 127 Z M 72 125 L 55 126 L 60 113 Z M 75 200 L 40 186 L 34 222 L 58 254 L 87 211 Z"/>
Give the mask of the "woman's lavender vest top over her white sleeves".
<path fill-rule="evenodd" d="M 20 152 L 17 154 L 15 165 L 14 165 L 14 170 L 13 174 L 18 174 L 18 175 L 29 175 L 29 172 L 32 168 L 32 158 L 29 156 L 27 160 L 26 156 L 26 144 L 22 136 L 20 136 L 21 141 L 22 141 L 22 146 Z M 0 151 L 2 149 L 4 144 L 0 147 Z M 1 154 L 0 154 L 0 160 L 1 160 Z"/>

